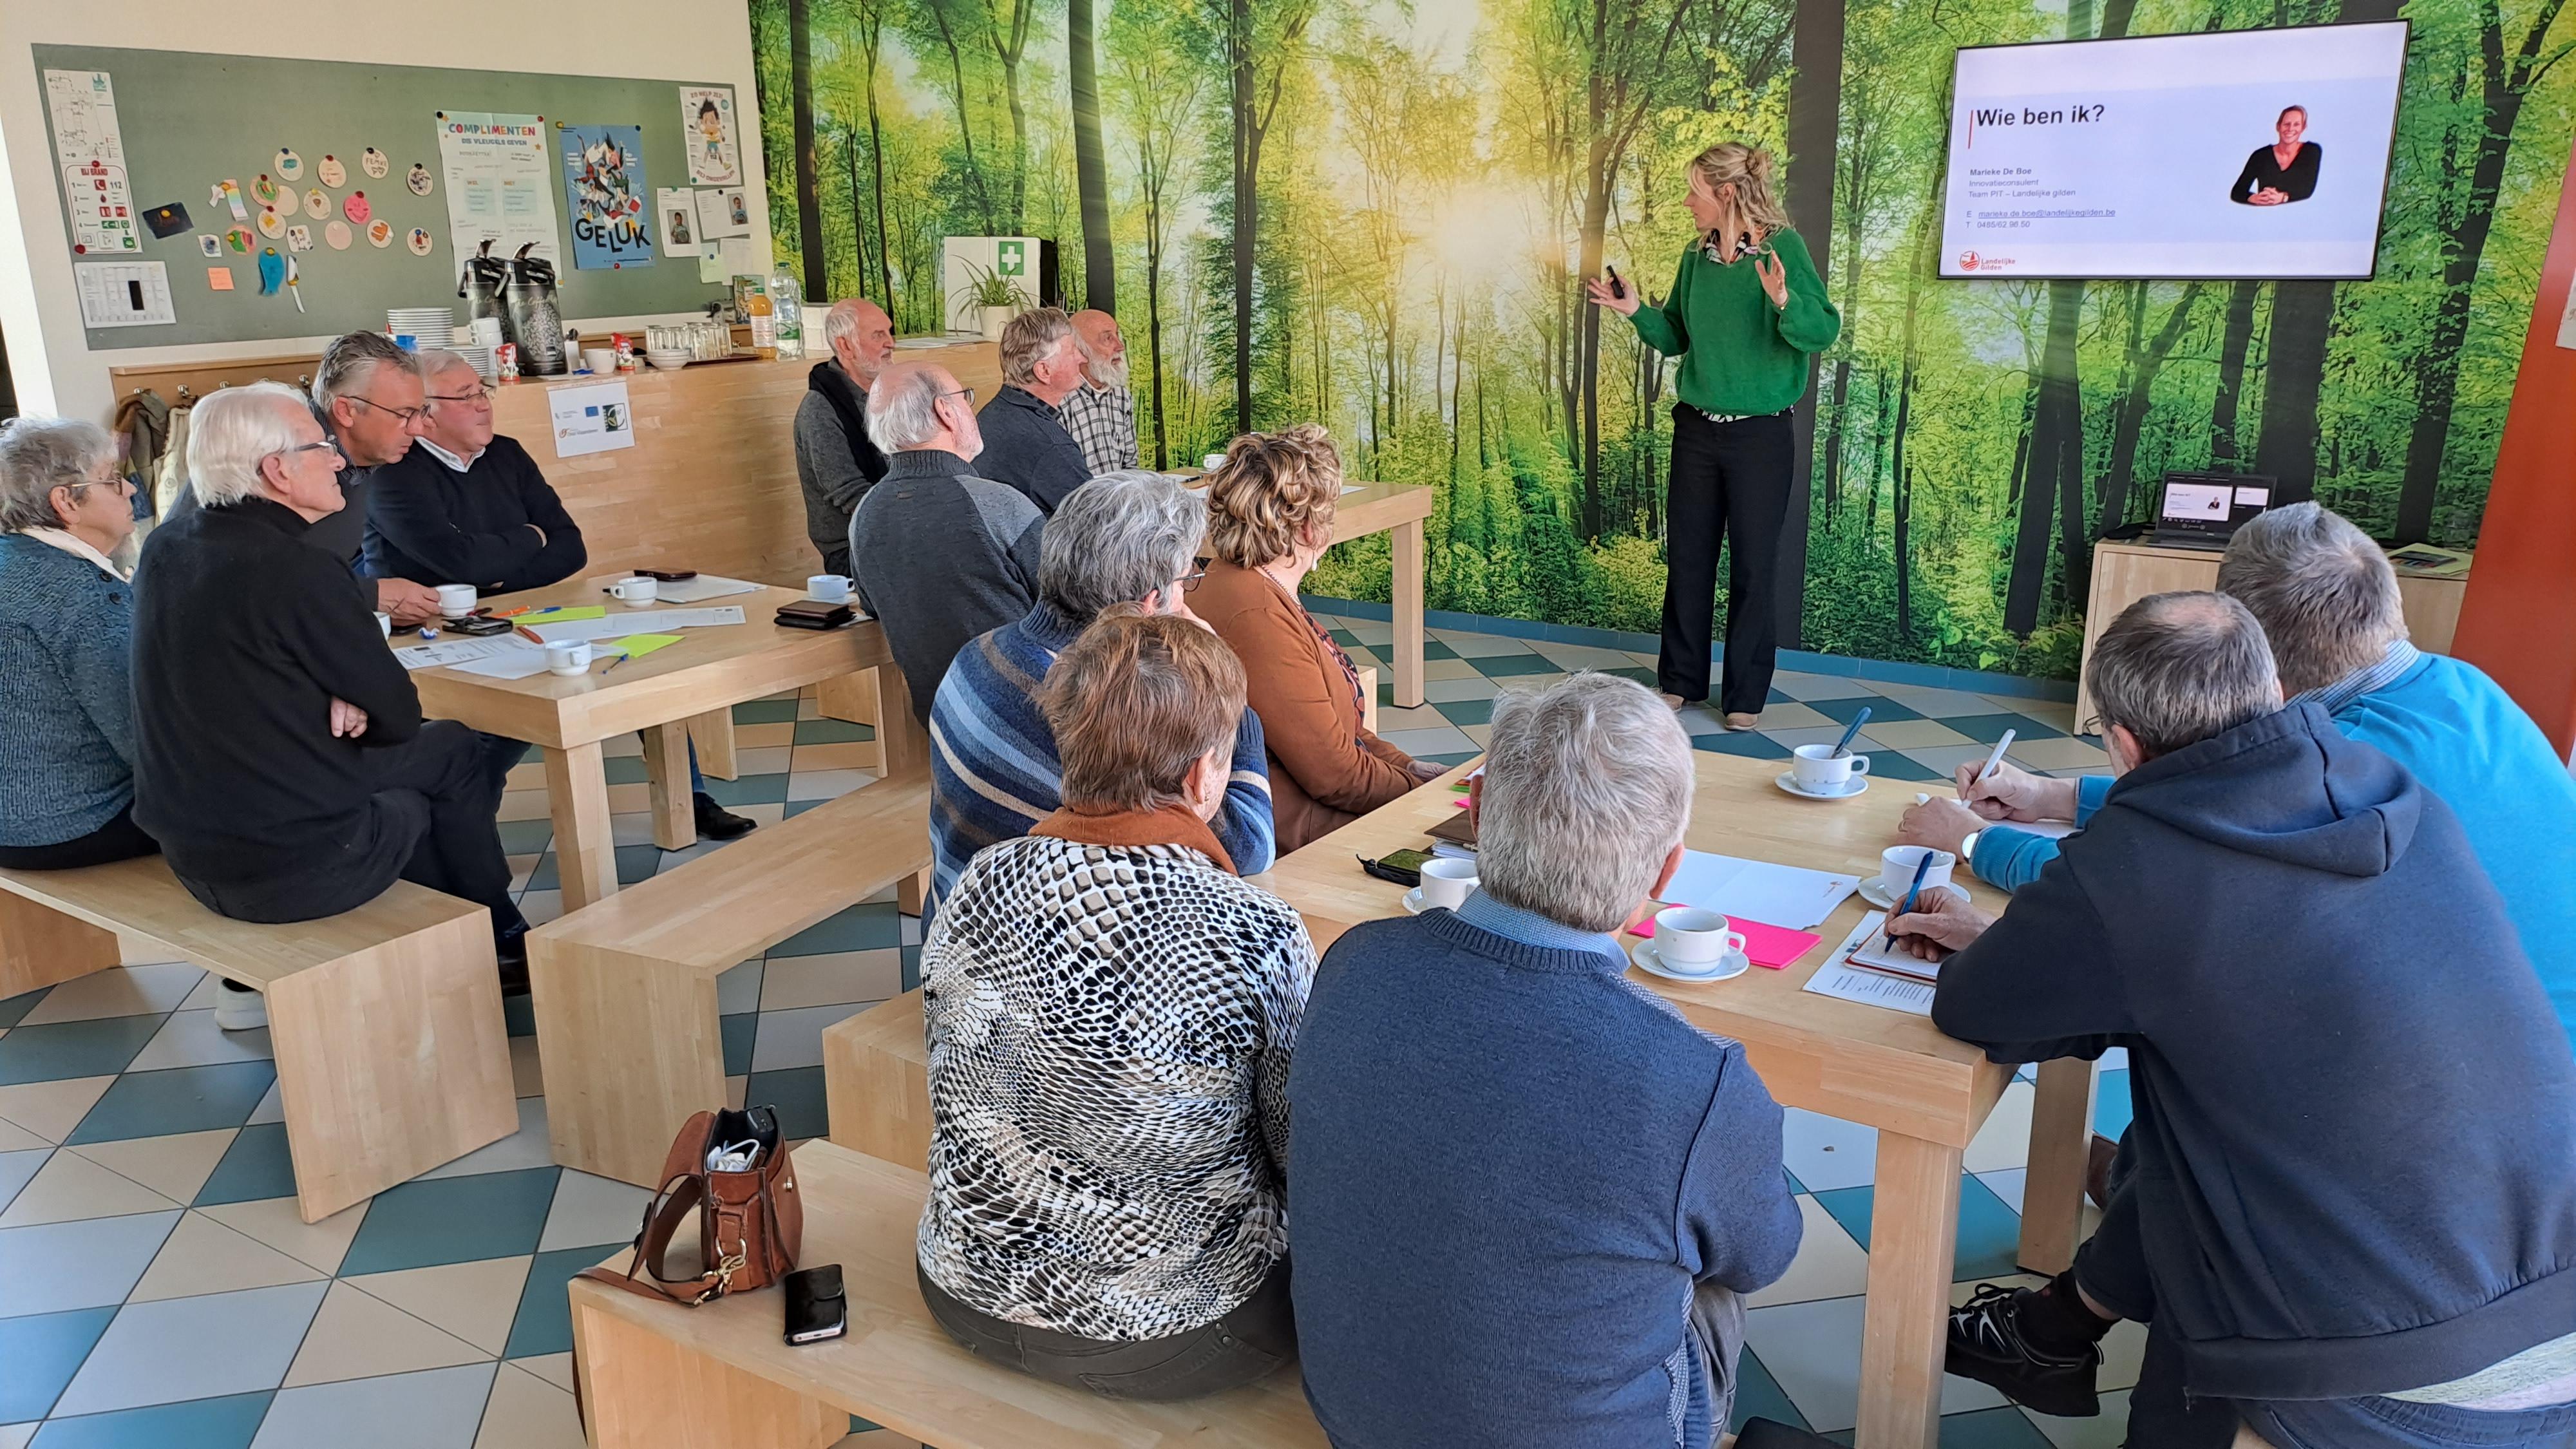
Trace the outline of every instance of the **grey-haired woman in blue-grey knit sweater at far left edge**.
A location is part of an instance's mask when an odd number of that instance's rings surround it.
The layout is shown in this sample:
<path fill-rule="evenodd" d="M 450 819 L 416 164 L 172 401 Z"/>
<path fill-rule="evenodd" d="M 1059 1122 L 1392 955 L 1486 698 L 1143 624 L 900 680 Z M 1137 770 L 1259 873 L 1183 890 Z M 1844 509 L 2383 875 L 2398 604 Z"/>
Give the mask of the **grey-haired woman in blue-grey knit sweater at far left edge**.
<path fill-rule="evenodd" d="M 149 856 L 134 828 L 134 534 L 116 441 L 77 418 L 0 428 L 0 866 Z"/>

